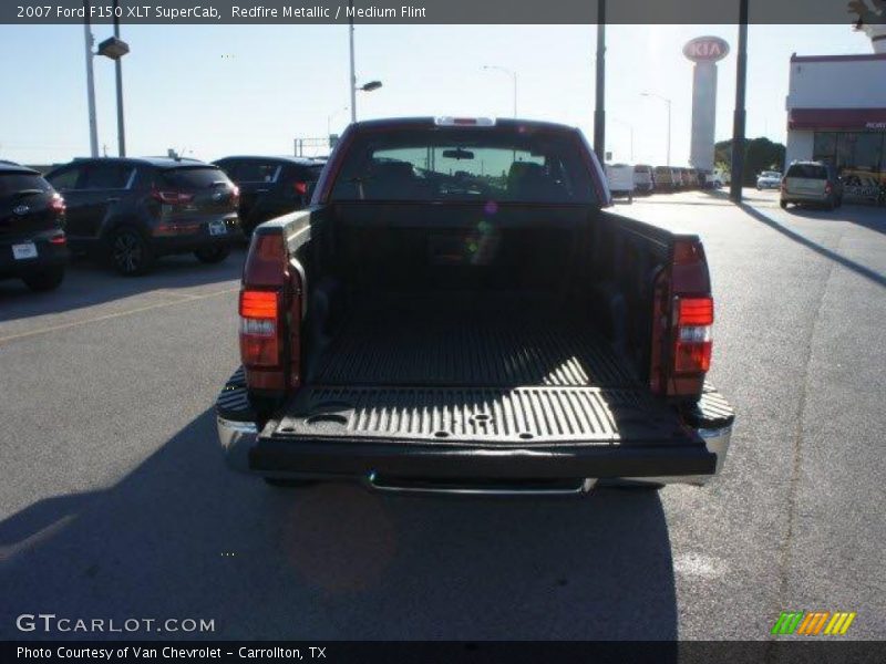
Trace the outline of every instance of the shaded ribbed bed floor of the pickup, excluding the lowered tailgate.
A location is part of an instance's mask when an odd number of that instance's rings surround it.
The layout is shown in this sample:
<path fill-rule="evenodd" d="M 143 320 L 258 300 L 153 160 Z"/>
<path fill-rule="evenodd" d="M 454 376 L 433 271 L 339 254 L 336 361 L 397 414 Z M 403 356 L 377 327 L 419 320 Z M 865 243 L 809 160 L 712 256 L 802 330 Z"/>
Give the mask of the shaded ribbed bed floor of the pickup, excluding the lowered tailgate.
<path fill-rule="evenodd" d="M 635 387 L 593 323 L 535 301 L 400 298 L 354 312 L 317 385 Z"/>

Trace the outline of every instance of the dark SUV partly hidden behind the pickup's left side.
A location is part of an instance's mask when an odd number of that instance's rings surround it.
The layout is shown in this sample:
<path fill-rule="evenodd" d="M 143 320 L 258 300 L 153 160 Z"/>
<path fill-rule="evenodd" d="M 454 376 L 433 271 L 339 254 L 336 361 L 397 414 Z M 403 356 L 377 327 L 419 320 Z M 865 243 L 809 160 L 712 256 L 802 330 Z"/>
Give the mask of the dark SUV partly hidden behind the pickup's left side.
<path fill-rule="evenodd" d="M 303 208 L 324 162 L 299 157 L 225 157 L 213 162 L 240 188 L 240 220 L 247 235 L 268 219 Z"/>

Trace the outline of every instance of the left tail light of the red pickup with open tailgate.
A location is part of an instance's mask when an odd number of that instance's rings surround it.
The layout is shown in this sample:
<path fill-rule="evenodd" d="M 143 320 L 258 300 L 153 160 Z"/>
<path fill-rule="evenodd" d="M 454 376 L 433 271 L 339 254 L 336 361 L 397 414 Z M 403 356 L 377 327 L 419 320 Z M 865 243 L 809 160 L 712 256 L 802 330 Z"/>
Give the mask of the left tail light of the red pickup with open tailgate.
<path fill-rule="evenodd" d="M 240 360 L 244 366 L 277 366 L 280 295 L 274 291 L 240 292 Z"/>

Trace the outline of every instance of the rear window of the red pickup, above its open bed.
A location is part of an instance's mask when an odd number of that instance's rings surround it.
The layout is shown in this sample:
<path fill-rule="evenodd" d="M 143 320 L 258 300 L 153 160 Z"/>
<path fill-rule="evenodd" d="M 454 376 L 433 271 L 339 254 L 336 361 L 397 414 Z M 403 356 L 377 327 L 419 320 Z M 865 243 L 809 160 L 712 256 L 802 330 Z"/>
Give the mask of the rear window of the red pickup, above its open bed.
<path fill-rule="evenodd" d="M 416 128 L 358 134 L 331 200 L 596 204 L 571 133 Z"/>

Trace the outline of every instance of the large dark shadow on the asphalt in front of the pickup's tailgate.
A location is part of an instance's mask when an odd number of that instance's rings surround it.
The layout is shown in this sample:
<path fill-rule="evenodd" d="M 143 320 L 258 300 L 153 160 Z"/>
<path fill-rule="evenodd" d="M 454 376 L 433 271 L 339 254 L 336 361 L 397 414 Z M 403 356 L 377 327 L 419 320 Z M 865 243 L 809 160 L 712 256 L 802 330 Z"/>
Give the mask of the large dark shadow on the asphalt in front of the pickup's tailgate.
<path fill-rule="evenodd" d="M 677 637 L 656 492 L 274 489 L 227 470 L 210 411 L 107 489 L 43 498 L 0 522 L 0 583 L 3 639 Z M 215 630 L 23 636 L 16 616 L 39 612 Z"/>

